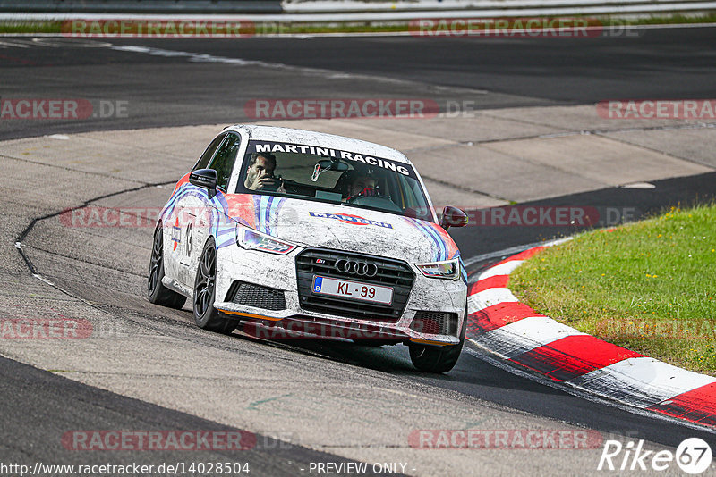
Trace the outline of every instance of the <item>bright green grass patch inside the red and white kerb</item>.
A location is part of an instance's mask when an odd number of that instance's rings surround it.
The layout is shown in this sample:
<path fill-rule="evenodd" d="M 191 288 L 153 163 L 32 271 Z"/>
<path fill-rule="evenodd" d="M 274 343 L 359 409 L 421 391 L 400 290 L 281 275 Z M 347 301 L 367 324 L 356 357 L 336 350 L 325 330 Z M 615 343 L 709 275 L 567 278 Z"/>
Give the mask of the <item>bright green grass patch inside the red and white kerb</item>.
<path fill-rule="evenodd" d="M 716 205 L 580 234 L 525 262 L 509 288 L 579 331 L 716 375 Z"/>

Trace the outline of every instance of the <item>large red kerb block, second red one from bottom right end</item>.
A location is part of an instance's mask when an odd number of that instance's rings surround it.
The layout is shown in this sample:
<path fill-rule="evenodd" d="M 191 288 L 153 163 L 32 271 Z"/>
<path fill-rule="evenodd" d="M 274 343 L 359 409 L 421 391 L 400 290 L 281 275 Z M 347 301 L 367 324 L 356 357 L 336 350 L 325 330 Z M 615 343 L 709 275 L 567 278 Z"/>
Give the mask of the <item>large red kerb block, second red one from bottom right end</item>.
<path fill-rule="evenodd" d="M 641 356 L 644 355 L 593 336 L 576 335 L 535 347 L 511 361 L 544 374 L 554 381 L 569 381 L 626 358 Z"/>

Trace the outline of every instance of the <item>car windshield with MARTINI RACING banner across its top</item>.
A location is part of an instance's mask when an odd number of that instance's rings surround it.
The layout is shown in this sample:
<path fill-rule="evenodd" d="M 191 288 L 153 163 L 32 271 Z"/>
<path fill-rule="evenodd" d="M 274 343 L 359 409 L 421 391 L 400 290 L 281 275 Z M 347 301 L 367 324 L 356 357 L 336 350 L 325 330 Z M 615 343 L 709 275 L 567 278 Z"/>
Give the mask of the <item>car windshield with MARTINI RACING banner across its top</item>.
<path fill-rule="evenodd" d="M 410 164 L 328 147 L 252 140 L 236 192 L 353 205 L 433 222 Z"/>

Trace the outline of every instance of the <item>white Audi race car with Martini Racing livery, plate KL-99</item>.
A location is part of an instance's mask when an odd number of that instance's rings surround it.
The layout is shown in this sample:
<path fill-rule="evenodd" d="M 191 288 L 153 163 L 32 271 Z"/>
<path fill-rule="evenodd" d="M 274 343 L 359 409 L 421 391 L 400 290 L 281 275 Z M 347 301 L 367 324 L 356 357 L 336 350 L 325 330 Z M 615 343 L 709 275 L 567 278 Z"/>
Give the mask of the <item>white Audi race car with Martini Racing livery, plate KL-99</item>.
<path fill-rule="evenodd" d="M 438 219 L 394 149 L 231 126 L 158 217 L 149 301 L 181 308 L 191 297 L 210 331 L 246 322 L 268 338 L 404 343 L 415 367 L 447 372 L 463 347 L 467 298 L 447 229 L 466 222 L 454 207 Z"/>

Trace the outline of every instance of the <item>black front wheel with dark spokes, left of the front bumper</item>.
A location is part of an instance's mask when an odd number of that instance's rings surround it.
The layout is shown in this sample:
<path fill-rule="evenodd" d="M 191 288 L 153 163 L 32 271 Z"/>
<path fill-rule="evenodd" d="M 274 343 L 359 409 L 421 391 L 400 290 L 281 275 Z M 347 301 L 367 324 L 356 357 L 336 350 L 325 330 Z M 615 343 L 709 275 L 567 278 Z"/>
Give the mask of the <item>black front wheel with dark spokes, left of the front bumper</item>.
<path fill-rule="evenodd" d="M 226 318 L 214 308 L 217 292 L 217 247 L 214 238 L 209 238 L 201 252 L 199 266 L 194 280 L 194 322 L 204 330 L 229 334 L 236 329 L 237 320 Z"/>

